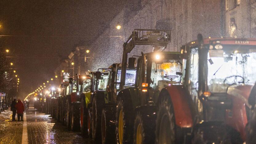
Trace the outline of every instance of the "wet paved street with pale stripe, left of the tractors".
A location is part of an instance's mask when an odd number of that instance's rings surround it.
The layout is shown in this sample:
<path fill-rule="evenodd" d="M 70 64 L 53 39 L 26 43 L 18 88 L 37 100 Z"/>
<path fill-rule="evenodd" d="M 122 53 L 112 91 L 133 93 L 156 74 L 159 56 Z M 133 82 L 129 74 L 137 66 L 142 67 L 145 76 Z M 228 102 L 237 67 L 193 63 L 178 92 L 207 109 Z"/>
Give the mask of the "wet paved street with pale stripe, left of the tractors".
<path fill-rule="evenodd" d="M 0 143 L 94 144 L 89 138 L 83 138 L 80 132 L 68 131 L 66 126 L 51 118 L 50 115 L 36 112 L 33 108 L 27 111 L 24 122 L 11 120 L 0 122 Z"/>

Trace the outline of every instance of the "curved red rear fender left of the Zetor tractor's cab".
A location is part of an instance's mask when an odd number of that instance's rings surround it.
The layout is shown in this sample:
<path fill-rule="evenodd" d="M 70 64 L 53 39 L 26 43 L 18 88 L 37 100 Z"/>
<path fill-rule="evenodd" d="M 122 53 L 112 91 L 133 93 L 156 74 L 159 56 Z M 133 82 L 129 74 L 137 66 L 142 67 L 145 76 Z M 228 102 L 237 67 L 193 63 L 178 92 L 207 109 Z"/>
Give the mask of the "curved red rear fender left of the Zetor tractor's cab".
<path fill-rule="evenodd" d="M 190 128 L 194 124 L 196 109 L 188 90 L 181 85 L 171 85 L 162 89 L 158 102 L 169 95 L 173 108 L 175 123 L 181 128 Z"/>

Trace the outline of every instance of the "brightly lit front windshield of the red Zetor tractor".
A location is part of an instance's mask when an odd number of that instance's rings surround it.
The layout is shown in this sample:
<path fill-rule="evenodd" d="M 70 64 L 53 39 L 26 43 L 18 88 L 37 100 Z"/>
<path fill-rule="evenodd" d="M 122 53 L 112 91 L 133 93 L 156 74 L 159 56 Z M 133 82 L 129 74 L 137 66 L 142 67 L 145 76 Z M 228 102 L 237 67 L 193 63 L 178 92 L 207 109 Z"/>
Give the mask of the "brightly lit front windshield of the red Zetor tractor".
<path fill-rule="evenodd" d="M 212 54 L 213 53 L 213 54 Z M 211 92 L 223 93 L 232 84 L 254 84 L 256 81 L 256 53 L 208 52 L 208 88 Z"/>

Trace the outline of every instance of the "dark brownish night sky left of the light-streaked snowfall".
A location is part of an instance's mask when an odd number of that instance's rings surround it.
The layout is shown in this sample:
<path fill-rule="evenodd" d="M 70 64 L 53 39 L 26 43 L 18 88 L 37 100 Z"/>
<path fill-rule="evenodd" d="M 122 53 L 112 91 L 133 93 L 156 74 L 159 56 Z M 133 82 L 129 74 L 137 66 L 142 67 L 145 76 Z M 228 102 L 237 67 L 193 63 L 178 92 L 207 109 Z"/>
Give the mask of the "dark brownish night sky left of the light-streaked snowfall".
<path fill-rule="evenodd" d="M 0 38 L 15 56 L 20 97 L 54 77 L 61 58 L 89 45 L 125 2 L 117 0 L 1 0 Z"/>

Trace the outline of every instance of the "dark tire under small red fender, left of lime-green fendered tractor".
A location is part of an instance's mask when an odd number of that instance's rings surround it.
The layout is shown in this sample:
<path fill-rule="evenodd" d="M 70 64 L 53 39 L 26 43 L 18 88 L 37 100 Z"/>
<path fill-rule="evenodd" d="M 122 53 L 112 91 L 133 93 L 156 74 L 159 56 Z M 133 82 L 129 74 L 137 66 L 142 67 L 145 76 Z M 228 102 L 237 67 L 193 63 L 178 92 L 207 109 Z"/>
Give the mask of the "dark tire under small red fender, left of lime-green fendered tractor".
<path fill-rule="evenodd" d="M 80 102 L 73 102 L 71 106 L 71 130 L 72 131 L 78 131 L 80 130 Z"/>

